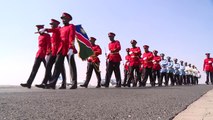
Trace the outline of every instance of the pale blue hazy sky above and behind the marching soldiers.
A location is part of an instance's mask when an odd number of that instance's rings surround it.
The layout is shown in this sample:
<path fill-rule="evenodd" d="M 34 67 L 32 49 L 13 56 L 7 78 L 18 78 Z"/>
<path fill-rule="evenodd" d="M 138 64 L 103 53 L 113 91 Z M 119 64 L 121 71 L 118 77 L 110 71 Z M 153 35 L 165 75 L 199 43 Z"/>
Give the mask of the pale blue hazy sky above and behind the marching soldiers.
<path fill-rule="evenodd" d="M 166 56 L 187 61 L 202 73 L 205 53 L 213 54 L 212 0 L 6 0 L 0 2 L 1 44 L 0 85 L 18 85 L 27 81 L 38 49 L 35 25 L 49 28 L 50 19 L 60 20 L 63 12 L 73 16 L 73 24 L 82 24 L 88 36 L 97 38 L 102 48 L 101 77 L 105 76 L 105 52 L 108 52 L 108 32 L 116 33 L 121 42 L 121 73 L 130 40 L 138 46 L 150 46 Z M 62 24 L 61 24 L 62 26 Z M 77 43 L 76 43 L 76 46 Z M 78 81 L 85 80 L 86 61 L 78 55 Z M 67 81 L 69 70 L 65 61 Z M 33 84 L 41 83 L 44 66 L 41 64 Z M 114 75 L 113 75 L 114 78 Z M 123 76 L 122 76 L 123 78 Z M 91 83 L 96 85 L 93 73 Z"/>

